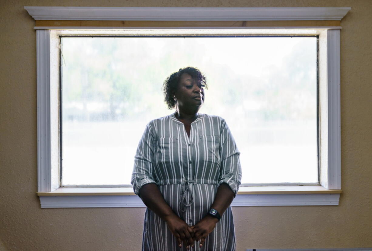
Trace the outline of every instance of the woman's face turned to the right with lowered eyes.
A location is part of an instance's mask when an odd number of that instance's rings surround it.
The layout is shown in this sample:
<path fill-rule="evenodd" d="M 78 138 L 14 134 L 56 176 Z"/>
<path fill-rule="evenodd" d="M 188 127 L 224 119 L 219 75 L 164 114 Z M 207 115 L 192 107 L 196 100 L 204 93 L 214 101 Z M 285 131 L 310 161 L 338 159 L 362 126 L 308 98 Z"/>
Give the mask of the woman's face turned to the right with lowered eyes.
<path fill-rule="evenodd" d="M 204 103 L 202 83 L 193 79 L 188 73 L 182 73 L 174 95 L 177 98 L 177 107 L 201 107 Z"/>

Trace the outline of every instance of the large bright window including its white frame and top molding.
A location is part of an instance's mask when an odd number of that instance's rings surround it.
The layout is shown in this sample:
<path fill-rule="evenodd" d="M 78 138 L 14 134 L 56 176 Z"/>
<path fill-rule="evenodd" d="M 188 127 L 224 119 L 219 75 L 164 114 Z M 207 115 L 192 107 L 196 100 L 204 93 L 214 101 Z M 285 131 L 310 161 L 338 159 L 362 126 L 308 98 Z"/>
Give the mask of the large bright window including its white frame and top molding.
<path fill-rule="evenodd" d="M 201 112 L 224 117 L 242 153 L 232 206 L 339 204 L 349 7 L 25 9 L 37 30 L 41 207 L 144 207 L 128 185 L 135 147 L 171 112 L 161 83 L 187 65 L 208 78 Z"/>

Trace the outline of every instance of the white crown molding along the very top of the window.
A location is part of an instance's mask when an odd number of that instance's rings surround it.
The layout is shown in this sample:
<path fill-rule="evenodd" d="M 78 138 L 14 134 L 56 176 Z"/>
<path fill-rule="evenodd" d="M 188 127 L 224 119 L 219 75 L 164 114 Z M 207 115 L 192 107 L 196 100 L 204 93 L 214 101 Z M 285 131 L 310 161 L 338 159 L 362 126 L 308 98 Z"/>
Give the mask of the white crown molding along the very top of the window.
<path fill-rule="evenodd" d="M 45 7 L 25 6 L 35 20 L 341 20 L 350 7 Z"/>

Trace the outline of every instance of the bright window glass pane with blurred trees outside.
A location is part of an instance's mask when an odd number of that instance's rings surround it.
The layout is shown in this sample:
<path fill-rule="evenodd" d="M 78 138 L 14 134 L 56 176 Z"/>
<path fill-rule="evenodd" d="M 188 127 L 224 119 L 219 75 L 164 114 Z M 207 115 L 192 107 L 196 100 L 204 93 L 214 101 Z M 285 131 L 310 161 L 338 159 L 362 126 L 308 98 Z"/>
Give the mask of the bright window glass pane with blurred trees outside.
<path fill-rule="evenodd" d="M 226 119 L 243 183 L 318 182 L 316 37 L 63 37 L 62 185 L 129 184 L 145 125 L 179 68 Z"/>

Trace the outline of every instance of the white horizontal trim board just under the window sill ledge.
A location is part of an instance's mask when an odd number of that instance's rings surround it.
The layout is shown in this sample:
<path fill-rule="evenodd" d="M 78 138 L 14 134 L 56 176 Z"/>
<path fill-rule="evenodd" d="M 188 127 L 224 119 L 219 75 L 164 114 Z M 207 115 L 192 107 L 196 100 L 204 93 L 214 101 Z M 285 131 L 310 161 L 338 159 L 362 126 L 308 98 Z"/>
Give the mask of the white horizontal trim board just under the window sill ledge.
<path fill-rule="evenodd" d="M 146 207 L 141 198 L 122 196 L 39 196 L 41 208 Z M 238 194 L 231 203 L 239 206 L 337 206 L 340 194 Z"/>

